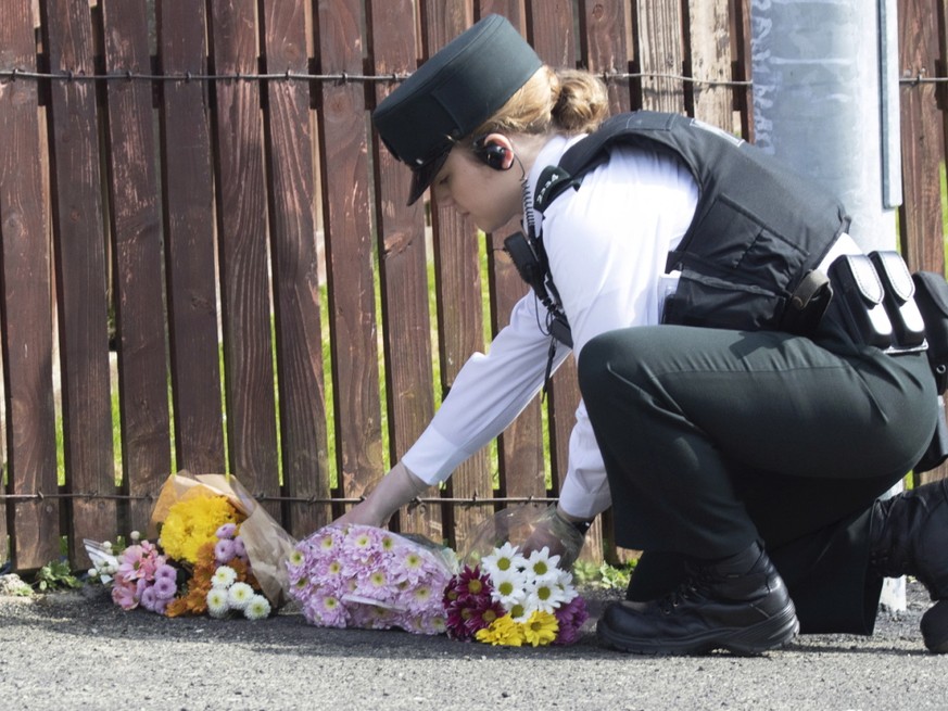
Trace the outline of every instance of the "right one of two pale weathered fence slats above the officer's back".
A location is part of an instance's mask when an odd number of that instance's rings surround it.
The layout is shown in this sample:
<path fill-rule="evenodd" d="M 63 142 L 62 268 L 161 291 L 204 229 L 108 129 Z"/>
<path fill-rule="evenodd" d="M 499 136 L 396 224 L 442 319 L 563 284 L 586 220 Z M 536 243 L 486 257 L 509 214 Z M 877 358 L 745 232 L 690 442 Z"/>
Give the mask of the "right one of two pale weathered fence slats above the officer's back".
<path fill-rule="evenodd" d="M 688 0 L 685 74 L 704 81 L 731 78 L 729 0 Z M 734 128 L 734 101 L 730 89 L 693 84 L 688 90 L 694 116 L 728 131 Z"/>

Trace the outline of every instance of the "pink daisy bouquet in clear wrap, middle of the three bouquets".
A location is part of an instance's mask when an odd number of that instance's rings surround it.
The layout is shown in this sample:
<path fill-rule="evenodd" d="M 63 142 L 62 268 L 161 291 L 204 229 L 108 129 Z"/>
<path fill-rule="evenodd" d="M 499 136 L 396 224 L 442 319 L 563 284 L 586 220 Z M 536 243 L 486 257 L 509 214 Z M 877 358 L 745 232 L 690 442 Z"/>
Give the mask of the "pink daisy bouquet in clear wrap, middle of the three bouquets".
<path fill-rule="evenodd" d="M 457 569 L 452 551 L 369 525 L 330 524 L 287 561 L 290 597 L 326 627 L 445 631 L 441 599 Z"/>

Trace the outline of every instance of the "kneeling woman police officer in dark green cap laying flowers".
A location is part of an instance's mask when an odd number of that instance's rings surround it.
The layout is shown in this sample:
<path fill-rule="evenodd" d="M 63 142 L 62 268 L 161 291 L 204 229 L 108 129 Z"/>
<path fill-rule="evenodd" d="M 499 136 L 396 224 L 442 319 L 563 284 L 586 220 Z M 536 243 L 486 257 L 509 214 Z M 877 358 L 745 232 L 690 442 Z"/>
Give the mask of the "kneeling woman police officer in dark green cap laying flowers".
<path fill-rule="evenodd" d="M 830 318 L 805 335 L 782 322 L 715 322 L 759 306 L 748 282 L 796 283 L 858 256 L 845 213 L 756 149 L 667 116 L 657 119 L 669 130 L 653 135 L 671 138 L 614 145 L 538 210 L 544 168 L 606 113 L 597 78 L 543 65 L 496 15 L 374 113 L 412 169 L 409 204 L 430 189 L 484 231 L 519 217 L 548 267 L 583 401 L 547 524 L 571 559 L 611 505 L 617 543 L 645 551 L 628 599 L 599 620 L 601 639 L 640 653 L 755 653 L 800 627 L 871 633 L 883 576 L 908 573 L 937 601 L 925 644 L 948 650 L 946 485 L 876 500 L 932 441 L 924 354 L 887 354 Z M 764 173 L 742 179 L 740 166 L 724 167 L 731 151 L 753 154 Z M 713 274 L 692 279 L 688 264 Z M 705 316 L 667 318 L 682 303 Z M 526 295 L 414 446 L 342 520 L 383 525 L 500 434 L 544 383 L 548 325 L 546 306 Z M 567 353 L 557 348 L 552 366 Z"/>

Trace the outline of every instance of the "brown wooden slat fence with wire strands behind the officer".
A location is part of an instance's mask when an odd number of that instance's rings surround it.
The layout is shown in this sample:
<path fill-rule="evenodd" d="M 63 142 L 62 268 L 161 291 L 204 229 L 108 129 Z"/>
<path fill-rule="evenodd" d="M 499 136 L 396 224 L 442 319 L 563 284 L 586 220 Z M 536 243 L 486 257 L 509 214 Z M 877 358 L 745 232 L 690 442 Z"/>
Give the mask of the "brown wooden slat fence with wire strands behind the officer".
<path fill-rule="evenodd" d="M 901 237 L 913 267 L 941 270 L 946 0 L 899 5 Z M 375 104 L 497 12 L 547 63 L 602 73 L 616 111 L 753 138 L 748 7 L 0 2 L 0 561 L 37 568 L 66 536 L 85 564 L 81 539 L 142 529 L 177 469 L 232 472 L 296 535 L 330 521 L 524 292 L 500 250 L 509 230 L 478 239 L 404 205 Z M 572 368 L 396 525 L 462 545 L 495 507 L 554 498 Z M 611 554 L 603 530 L 594 557 Z"/>

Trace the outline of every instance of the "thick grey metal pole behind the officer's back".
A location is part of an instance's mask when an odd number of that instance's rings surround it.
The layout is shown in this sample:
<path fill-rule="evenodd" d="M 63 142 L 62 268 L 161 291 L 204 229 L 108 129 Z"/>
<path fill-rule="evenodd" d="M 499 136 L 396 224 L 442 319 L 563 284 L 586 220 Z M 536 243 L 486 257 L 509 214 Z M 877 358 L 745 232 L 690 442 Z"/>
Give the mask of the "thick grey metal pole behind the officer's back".
<path fill-rule="evenodd" d="M 896 0 L 751 0 L 755 142 L 834 190 L 864 250 L 901 203 Z"/>

